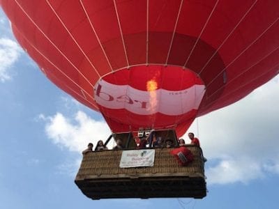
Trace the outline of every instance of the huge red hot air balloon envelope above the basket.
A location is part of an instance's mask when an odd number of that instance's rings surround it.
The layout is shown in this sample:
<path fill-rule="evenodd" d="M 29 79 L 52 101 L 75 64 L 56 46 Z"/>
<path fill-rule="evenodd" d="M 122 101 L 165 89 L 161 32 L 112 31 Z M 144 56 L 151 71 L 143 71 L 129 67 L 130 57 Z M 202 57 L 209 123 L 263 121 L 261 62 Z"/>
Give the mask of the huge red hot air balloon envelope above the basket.
<path fill-rule="evenodd" d="M 0 2 L 45 75 L 112 132 L 181 135 L 278 74 L 279 1 Z"/>

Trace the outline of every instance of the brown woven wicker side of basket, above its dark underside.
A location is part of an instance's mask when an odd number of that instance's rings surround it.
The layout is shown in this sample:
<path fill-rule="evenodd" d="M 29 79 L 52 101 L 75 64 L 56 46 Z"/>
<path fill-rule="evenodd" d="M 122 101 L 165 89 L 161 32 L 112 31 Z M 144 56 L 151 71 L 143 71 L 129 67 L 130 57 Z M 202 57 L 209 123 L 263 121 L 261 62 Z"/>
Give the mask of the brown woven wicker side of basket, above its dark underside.
<path fill-rule="evenodd" d="M 137 167 L 123 169 L 119 167 L 122 150 L 107 150 L 84 155 L 76 180 L 92 178 L 124 178 L 127 176 L 183 176 L 204 177 L 204 162 L 201 150 L 196 146 L 188 146 L 193 153 L 194 161 L 181 167 L 170 155 L 173 148 L 156 148 L 153 167 Z"/>

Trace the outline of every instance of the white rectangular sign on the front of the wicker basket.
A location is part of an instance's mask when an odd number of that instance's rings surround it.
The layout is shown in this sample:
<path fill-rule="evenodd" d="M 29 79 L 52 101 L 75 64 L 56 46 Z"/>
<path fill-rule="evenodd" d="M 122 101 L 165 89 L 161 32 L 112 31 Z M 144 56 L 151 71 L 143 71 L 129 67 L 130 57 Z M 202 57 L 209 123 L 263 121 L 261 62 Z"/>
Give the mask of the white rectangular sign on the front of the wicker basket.
<path fill-rule="evenodd" d="M 155 150 L 123 150 L 119 167 L 153 167 Z"/>

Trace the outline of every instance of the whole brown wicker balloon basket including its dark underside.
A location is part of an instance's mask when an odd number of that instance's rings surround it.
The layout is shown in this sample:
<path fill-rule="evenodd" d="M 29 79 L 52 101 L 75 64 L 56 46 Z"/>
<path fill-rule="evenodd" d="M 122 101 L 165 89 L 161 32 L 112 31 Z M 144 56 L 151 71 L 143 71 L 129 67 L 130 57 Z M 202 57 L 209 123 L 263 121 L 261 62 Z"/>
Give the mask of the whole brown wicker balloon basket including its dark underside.
<path fill-rule="evenodd" d="M 194 160 L 181 167 L 173 148 L 156 148 L 153 167 L 120 168 L 122 150 L 84 155 L 75 183 L 91 199 L 206 196 L 202 150 L 187 146 Z"/>

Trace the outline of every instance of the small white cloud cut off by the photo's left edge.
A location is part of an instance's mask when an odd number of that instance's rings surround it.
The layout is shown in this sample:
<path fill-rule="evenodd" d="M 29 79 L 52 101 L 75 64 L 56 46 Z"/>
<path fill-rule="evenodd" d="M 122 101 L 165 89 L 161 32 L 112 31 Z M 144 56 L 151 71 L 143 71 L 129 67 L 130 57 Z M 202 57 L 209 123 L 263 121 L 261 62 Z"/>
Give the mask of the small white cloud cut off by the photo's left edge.
<path fill-rule="evenodd" d="M 0 38 L 0 81 L 10 79 L 9 69 L 19 59 L 22 49 L 9 38 Z"/>

